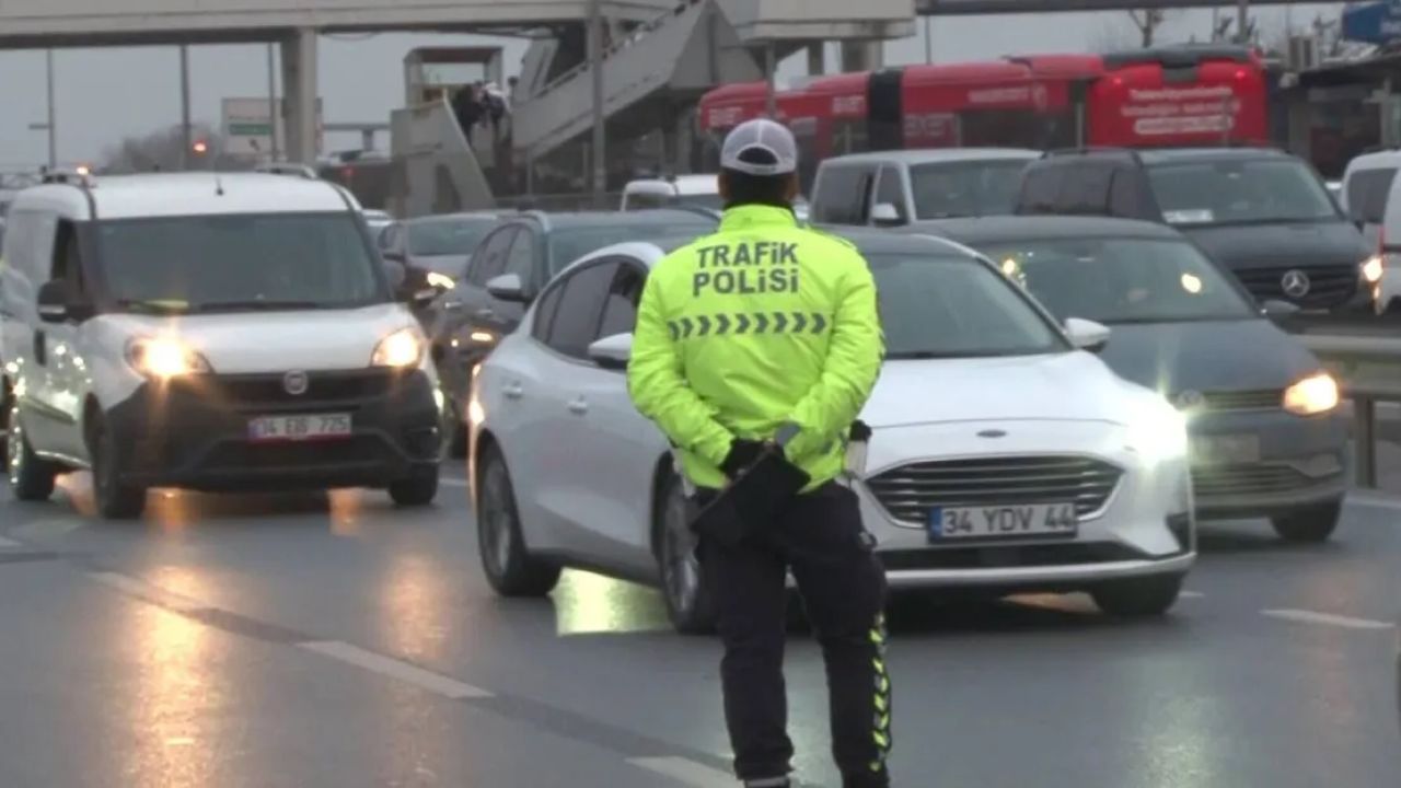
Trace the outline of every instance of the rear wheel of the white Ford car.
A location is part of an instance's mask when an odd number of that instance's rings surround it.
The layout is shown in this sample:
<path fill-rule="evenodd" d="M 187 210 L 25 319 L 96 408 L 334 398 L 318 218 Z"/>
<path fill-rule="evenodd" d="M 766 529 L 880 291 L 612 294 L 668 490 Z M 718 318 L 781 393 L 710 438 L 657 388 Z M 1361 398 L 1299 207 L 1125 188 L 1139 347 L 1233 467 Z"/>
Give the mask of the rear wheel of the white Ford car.
<path fill-rule="evenodd" d="M 482 457 L 476 540 L 486 582 L 496 593 L 545 596 L 559 582 L 559 566 L 532 558 L 525 547 L 506 457 L 495 446 L 489 446 Z"/>

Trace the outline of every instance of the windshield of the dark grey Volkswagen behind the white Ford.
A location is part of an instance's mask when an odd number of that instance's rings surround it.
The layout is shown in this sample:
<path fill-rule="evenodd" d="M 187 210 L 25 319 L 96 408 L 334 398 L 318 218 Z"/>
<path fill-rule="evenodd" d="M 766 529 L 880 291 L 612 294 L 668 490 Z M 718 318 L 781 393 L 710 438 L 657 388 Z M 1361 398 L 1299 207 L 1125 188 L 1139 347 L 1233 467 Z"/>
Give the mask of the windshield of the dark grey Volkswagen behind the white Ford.
<path fill-rule="evenodd" d="M 1184 241 L 1055 238 L 976 245 L 1059 320 L 1181 322 L 1257 317 L 1226 275 Z"/>

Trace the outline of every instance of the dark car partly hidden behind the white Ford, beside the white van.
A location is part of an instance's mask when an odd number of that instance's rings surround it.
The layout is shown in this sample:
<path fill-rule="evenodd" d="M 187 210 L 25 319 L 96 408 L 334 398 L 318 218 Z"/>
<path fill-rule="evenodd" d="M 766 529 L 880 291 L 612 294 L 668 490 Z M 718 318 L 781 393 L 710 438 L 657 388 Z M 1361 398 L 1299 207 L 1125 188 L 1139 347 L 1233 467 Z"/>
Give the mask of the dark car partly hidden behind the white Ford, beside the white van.
<path fill-rule="evenodd" d="M 476 245 L 467 273 L 434 300 L 423 324 L 450 408 L 451 449 L 467 449 L 462 414 L 472 370 L 496 342 L 520 325 L 535 294 L 576 259 L 625 241 L 699 237 L 713 233 L 719 212 L 658 209 L 581 213 L 528 210 L 503 217 Z M 489 287 L 490 285 L 490 287 Z"/>

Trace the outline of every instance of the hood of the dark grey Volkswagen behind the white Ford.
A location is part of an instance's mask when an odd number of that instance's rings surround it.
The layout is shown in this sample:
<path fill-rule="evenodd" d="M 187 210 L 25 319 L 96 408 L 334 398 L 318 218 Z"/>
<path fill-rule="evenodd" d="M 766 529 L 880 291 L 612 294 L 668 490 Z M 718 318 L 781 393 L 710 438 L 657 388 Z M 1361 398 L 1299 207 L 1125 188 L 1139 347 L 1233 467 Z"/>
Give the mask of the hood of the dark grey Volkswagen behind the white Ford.
<path fill-rule="evenodd" d="M 1121 377 L 1175 394 L 1283 388 L 1320 369 L 1303 344 L 1268 320 L 1111 325 L 1100 352 Z"/>

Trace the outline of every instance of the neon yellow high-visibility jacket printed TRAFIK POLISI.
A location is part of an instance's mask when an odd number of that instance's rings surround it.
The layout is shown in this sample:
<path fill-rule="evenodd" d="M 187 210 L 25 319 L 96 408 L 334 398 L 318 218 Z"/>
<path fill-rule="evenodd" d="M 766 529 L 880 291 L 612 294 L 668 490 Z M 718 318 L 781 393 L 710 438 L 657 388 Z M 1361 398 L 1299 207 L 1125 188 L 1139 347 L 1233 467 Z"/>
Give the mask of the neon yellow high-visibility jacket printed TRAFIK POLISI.
<path fill-rule="evenodd" d="M 842 473 L 884 351 L 876 282 L 855 245 L 783 208 L 738 206 L 653 268 L 628 390 L 696 487 L 723 487 L 733 439 L 793 423 L 785 453 L 811 489 Z"/>

